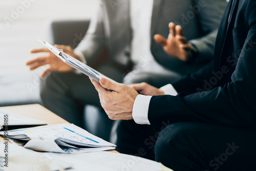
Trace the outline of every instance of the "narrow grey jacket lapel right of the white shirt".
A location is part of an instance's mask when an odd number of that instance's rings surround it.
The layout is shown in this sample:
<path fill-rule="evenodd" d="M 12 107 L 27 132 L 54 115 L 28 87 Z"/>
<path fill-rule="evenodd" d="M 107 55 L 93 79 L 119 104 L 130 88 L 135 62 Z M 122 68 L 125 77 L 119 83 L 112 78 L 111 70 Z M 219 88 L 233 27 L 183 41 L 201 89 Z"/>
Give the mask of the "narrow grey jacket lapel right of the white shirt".
<path fill-rule="evenodd" d="M 159 12 L 161 11 L 161 8 L 163 6 L 164 0 L 154 0 L 153 2 L 153 11 L 152 11 L 152 17 L 151 17 L 151 45 L 153 40 L 153 36 L 156 32 L 156 28 L 158 27 L 158 21 L 159 21 Z"/>

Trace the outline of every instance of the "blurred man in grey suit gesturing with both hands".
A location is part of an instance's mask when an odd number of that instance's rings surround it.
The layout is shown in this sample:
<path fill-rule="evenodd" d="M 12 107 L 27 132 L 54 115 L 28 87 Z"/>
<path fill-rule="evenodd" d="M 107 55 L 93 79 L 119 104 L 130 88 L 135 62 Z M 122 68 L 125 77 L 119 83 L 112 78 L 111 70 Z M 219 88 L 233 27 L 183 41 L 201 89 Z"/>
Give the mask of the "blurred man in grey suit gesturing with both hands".
<path fill-rule="evenodd" d="M 78 47 L 57 48 L 118 82 L 159 88 L 211 61 L 225 7 L 225 0 L 101 0 Z M 82 126 L 84 104 L 100 105 L 97 91 L 52 53 L 27 62 L 31 70 L 46 64 L 42 77 L 53 72 L 41 84 L 42 103 Z"/>

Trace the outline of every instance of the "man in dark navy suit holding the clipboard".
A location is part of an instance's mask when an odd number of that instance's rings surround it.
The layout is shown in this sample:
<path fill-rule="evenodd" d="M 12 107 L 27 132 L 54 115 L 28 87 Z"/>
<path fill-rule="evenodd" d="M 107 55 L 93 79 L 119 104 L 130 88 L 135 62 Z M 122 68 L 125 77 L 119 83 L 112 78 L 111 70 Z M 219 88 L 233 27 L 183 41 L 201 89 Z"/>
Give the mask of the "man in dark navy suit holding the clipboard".
<path fill-rule="evenodd" d="M 162 95 L 164 91 L 145 83 L 132 87 L 150 96 L 123 84 L 91 79 L 109 117 L 129 120 L 121 121 L 118 130 L 119 135 L 126 134 L 119 141 L 130 151 L 126 153 L 147 158 L 155 154 L 156 161 L 174 170 L 255 169 L 255 8 L 254 0 L 229 2 L 214 61 L 173 82 L 176 96 Z"/>

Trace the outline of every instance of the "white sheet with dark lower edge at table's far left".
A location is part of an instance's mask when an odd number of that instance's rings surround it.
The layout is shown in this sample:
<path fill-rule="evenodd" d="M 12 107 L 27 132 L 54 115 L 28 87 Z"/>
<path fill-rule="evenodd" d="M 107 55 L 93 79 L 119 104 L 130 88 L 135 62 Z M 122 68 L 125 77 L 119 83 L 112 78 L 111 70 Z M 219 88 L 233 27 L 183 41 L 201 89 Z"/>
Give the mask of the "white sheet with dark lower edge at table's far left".
<path fill-rule="evenodd" d="M 0 130 L 8 125 L 8 130 L 18 129 L 21 127 L 45 125 L 46 122 L 29 118 L 23 115 L 18 115 L 6 111 L 0 111 Z"/>

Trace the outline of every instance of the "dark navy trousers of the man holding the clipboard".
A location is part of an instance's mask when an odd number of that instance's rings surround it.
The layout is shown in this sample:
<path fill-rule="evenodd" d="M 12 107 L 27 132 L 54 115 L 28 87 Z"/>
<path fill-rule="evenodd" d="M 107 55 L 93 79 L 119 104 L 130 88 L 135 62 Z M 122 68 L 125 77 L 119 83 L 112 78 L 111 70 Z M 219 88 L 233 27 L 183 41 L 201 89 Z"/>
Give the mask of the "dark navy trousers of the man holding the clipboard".
<path fill-rule="evenodd" d="M 155 159 L 175 171 L 255 170 L 256 127 L 237 129 L 199 122 L 167 124 L 163 123 L 165 128 L 158 134 L 150 125 L 120 121 L 117 151 Z"/>

